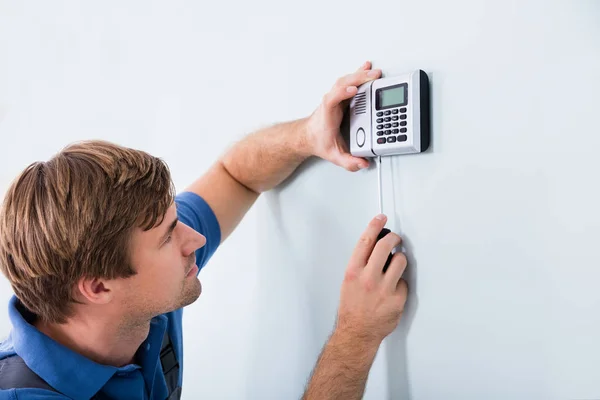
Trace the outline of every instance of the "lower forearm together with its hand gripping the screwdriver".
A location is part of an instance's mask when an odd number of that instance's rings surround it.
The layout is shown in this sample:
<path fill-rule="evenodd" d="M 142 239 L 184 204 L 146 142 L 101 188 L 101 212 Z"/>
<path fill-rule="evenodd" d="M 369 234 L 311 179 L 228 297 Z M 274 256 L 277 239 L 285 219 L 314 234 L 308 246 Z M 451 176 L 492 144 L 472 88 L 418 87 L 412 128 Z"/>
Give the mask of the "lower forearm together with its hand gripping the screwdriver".
<path fill-rule="evenodd" d="M 395 233 L 377 242 L 386 220 L 373 219 L 354 249 L 342 283 L 336 328 L 303 400 L 361 399 L 377 349 L 398 325 L 408 293 L 401 279 L 406 257 L 397 252 L 382 273 L 388 255 L 400 244 Z"/>

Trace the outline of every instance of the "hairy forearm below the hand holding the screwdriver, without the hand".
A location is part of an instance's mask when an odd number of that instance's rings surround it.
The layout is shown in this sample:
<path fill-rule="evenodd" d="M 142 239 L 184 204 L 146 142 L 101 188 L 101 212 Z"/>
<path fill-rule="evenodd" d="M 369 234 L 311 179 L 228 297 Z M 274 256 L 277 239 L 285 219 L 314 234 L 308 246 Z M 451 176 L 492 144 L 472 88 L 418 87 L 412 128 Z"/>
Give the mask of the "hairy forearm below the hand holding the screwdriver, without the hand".
<path fill-rule="evenodd" d="M 379 344 L 356 343 L 334 332 L 323 349 L 302 400 L 359 400 Z"/>

